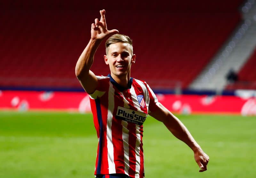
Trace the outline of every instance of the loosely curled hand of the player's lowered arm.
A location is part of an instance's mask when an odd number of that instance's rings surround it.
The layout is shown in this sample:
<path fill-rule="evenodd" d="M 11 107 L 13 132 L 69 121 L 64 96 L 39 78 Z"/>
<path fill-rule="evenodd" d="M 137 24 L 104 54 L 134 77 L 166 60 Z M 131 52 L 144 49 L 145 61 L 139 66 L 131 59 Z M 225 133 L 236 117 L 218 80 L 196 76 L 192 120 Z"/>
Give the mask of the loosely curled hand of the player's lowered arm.
<path fill-rule="evenodd" d="M 209 156 L 206 153 L 204 153 L 204 151 L 202 149 L 198 149 L 198 150 L 194 151 L 194 156 L 195 156 L 196 163 L 201 168 L 199 170 L 199 172 L 206 171 L 207 164 L 209 162 Z"/>

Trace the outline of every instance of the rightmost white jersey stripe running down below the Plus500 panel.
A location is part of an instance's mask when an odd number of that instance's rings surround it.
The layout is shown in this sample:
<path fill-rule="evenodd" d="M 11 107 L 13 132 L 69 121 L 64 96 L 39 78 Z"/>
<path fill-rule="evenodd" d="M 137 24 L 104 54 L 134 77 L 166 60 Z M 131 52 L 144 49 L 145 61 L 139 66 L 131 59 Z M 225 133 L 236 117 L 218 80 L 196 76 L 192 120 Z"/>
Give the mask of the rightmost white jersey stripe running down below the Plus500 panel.
<path fill-rule="evenodd" d="M 136 165 L 135 165 L 135 178 L 140 178 L 140 127 L 136 126 L 136 147 L 135 147 L 135 157 L 136 157 Z"/>

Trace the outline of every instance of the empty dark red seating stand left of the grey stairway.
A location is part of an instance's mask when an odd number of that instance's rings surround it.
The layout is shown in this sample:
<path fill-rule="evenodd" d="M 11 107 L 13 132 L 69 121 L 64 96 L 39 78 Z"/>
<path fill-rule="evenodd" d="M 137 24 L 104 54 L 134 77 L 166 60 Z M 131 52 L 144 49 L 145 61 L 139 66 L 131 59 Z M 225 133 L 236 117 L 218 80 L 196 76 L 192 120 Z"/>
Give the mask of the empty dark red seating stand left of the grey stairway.
<path fill-rule="evenodd" d="M 0 16 L 0 86 L 80 87 L 78 57 L 90 39 L 98 11 L 4 11 Z M 240 20 L 232 13 L 107 11 L 109 29 L 133 39 L 131 76 L 157 88 L 156 80 L 195 79 Z M 92 71 L 107 75 L 104 42 Z M 170 83 L 168 83 L 170 81 Z M 161 83 L 161 82 L 160 82 Z M 162 84 L 161 84 L 162 85 Z"/>

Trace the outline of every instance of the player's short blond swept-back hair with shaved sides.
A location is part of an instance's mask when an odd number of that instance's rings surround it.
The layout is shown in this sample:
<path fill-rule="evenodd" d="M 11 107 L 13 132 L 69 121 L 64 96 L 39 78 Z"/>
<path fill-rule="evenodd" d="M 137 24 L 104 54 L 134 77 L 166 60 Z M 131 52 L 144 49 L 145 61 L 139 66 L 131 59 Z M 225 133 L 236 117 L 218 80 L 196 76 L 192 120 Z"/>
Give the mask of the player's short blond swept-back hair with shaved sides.
<path fill-rule="evenodd" d="M 128 43 L 131 45 L 131 51 L 133 54 L 133 48 L 132 48 L 132 39 L 129 36 L 122 35 L 122 34 L 115 34 L 108 38 L 108 40 L 105 43 L 106 46 L 106 54 L 108 55 L 108 49 L 110 44 L 114 43 Z"/>

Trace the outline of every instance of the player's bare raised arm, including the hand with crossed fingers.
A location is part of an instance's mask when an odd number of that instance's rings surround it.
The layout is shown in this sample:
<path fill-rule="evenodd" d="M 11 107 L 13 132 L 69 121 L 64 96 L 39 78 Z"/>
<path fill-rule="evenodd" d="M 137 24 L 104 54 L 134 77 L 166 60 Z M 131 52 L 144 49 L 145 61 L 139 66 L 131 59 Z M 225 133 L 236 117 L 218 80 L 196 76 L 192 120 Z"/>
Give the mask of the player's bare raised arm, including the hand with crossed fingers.
<path fill-rule="evenodd" d="M 93 93 L 98 85 L 96 75 L 90 70 L 94 54 L 105 38 L 118 33 L 118 30 L 107 29 L 105 13 L 104 9 L 100 11 L 100 21 L 95 19 L 95 23 L 92 23 L 91 39 L 76 63 L 76 77 L 89 94 Z"/>

